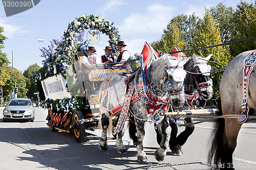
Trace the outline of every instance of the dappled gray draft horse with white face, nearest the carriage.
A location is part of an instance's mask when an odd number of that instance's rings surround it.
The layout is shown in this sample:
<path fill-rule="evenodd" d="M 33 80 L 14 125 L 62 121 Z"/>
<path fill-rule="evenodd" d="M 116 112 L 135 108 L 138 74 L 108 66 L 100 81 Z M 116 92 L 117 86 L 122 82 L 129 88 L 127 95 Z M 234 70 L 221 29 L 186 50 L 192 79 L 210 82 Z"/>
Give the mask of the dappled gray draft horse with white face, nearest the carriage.
<path fill-rule="evenodd" d="M 184 101 L 184 86 L 183 81 L 186 75 L 185 70 L 183 70 L 183 65 L 186 63 L 186 60 L 184 61 L 178 61 L 178 60 L 171 60 L 170 57 L 166 54 L 156 60 L 154 60 L 150 66 L 149 72 L 149 79 L 151 83 L 156 87 L 157 89 L 163 89 L 163 85 L 161 82 L 161 79 L 163 78 L 163 70 L 166 65 L 168 65 L 167 69 L 167 80 L 172 84 L 172 89 L 179 90 L 179 94 L 175 94 L 177 98 L 170 97 L 168 99 L 172 99 L 169 102 L 173 103 L 175 107 L 180 107 L 183 105 Z M 108 108 L 108 110 L 111 110 L 115 106 L 121 104 L 126 96 L 126 84 L 125 84 L 125 78 L 122 74 L 116 74 L 112 77 L 111 81 L 109 82 L 109 96 L 108 100 L 105 100 L 102 105 Z M 135 79 L 136 80 L 136 79 Z M 102 84 L 103 85 L 103 84 Z M 102 86 L 101 85 L 101 86 Z M 135 91 L 137 89 L 135 88 Z M 164 92 L 166 95 L 171 96 L 170 92 Z M 160 97 L 163 95 L 163 93 L 157 93 L 155 94 L 157 97 Z M 100 95 L 99 101 L 101 101 L 102 96 Z M 138 139 L 137 144 L 137 160 L 140 162 L 146 162 L 147 157 L 145 152 L 143 151 L 143 145 L 142 140 L 144 138 L 144 124 L 145 120 L 148 119 L 148 116 L 145 112 L 145 103 L 142 100 L 138 100 L 135 103 L 132 103 L 130 105 L 130 112 L 134 114 L 135 118 L 135 126 L 136 126 L 136 138 Z M 170 127 L 167 123 L 166 117 L 162 120 L 161 123 L 159 123 L 162 130 L 162 140 L 160 143 L 160 148 L 157 149 L 155 152 L 155 158 L 158 161 L 162 161 L 164 159 L 164 156 L 166 155 L 166 149 L 168 147 L 168 136 L 170 134 Z M 107 150 L 108 145 L 106 143 L 107 136 L 106 131 L 109 126 L 109 117 L 106 114 L 102 114 L 101 117 L 101 126 L 102 126 L 102 134 L 101 134 L 101 141 L 100 141 L 100 149 L 101 150 Z M 125 154 L 125 146 L 122 142 L 122 136 L 123 136 L 123 130 L 121 130 L 117 134 L 116 138 L 116 147 L 118 148 L 119 154 Z"/>

